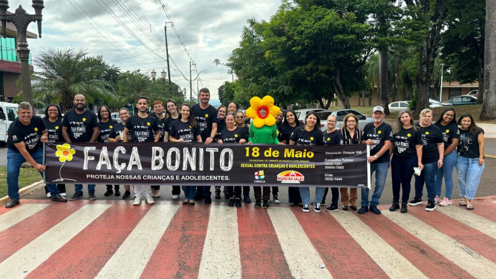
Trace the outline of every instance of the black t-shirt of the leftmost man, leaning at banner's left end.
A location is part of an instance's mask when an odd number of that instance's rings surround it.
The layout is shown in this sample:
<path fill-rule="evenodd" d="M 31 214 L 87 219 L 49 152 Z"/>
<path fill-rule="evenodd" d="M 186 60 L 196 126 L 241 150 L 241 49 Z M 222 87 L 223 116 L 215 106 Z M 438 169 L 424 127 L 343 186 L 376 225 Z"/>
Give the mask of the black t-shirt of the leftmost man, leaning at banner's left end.
<path fill-rule="evenodd" d="M 24 142 L 26 150 L 33 153 L 40 147 L 41 132 L 47 130 L 45 122 L 39 116 L 33 116 L 29 125 L 24 125 L 16 118 L 8 127 L 7 148 L 19 152 L 15 143 Z"/>

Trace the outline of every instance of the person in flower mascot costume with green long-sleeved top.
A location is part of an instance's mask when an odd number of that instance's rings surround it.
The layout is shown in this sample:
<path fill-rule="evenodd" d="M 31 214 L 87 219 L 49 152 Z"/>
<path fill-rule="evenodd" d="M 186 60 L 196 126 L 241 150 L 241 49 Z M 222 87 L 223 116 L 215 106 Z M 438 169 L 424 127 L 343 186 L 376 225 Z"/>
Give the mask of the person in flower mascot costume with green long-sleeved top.
<path fill-rule="evenodd" d="M 277 139 L 277 128 L 275 116 L 279 115 L 281 109 L 274 106 L 274 99 L 265 96 L 263 99 L 253 97 L 249 100 L 250 107 L 247 109 L 247 117 L 253 119 L 249 128 L 248 143 L 260 144 L 282 144 Z M 270 187 L 253 186 L 255 192 L 255 208 L 269 208 Z M 263 205 L 261 201 L 263 200 Z"/>

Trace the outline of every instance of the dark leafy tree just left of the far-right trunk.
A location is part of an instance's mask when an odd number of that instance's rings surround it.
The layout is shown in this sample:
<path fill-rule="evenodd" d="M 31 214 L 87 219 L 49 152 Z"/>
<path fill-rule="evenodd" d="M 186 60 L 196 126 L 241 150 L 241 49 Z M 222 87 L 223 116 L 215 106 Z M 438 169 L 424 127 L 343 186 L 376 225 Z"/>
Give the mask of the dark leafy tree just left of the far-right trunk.
<path fill-rule="evenodd" d="M 447 30 L 441 35 L 442 59 L 460 83 L 479 81 L 484 99 L 484 37 L 486 0 L 449 0 Z"/>

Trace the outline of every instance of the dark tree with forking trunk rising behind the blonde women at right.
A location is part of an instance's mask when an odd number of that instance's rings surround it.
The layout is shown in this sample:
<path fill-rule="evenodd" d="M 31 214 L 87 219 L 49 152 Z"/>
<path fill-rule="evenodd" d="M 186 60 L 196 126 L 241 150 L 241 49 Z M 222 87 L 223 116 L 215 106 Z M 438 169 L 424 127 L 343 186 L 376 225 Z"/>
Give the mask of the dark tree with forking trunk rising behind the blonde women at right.
<path fill-rule="evenodd" d="M 429 108 L 429 86 L 438 54 L 441 30 L 446 18 L 448 0 L 404 0 L 413 25 L 422 27 L 417 68 L 417 105 L 413 113 L 418 117 L 424 108 Z"/>

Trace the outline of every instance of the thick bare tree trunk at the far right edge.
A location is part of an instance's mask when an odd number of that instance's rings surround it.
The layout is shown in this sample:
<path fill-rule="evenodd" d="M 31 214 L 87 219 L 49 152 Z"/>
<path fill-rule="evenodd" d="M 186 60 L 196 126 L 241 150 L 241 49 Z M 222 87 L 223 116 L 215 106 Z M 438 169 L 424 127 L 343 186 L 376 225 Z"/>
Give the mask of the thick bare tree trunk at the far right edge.
<path fill-rule="evenodd" d="M 496 119 L 496 0 L 486 0 L 486 40 L 484 45 L 484 102 L 481 120 Z"/>

